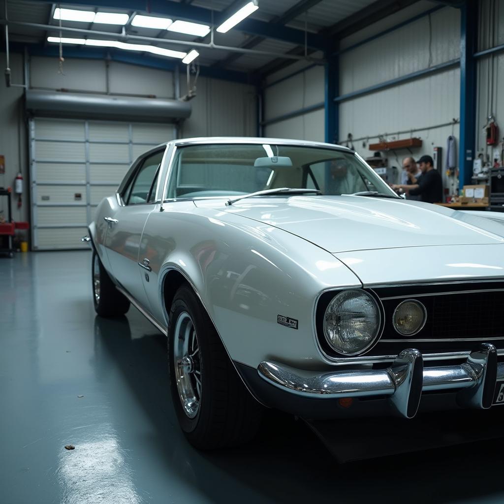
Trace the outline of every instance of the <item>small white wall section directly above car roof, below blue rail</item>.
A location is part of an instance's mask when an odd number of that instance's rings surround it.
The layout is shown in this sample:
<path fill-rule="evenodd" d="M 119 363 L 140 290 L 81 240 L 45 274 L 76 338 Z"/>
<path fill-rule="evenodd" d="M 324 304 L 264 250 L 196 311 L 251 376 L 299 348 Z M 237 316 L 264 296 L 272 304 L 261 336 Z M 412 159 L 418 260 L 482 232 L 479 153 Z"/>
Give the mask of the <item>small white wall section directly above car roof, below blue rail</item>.
<path fill-rule="evenodd" d="M 264 136 L 324 142 L 324 109 L 270 124 Z"/>

